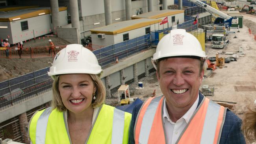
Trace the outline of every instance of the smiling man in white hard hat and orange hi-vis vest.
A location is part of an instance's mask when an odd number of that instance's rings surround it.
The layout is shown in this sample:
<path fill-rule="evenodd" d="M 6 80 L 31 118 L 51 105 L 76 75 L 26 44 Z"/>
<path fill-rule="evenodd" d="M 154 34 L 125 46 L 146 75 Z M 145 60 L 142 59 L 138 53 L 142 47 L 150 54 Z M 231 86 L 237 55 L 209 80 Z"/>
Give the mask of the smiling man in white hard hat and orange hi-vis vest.
<path fill-rule="evenodd" d="M 163 96 L 134 108 L 130 144 L 245 144 L 241 120 L 199 92 L 205 59 L 186 30 L 160 40 L 152 63 Z"/>

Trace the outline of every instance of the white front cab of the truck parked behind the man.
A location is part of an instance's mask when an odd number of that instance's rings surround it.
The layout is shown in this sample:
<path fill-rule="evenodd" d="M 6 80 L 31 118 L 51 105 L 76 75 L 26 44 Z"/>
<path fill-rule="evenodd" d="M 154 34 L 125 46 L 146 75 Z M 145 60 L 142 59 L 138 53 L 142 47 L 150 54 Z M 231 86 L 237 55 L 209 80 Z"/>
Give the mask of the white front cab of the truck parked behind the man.
<path fill-rule="evenodd" d="M 229 43 L 228 36 L 223 34 L 213 34 L 211 36 L 212 48 L 224 48 Z"/>

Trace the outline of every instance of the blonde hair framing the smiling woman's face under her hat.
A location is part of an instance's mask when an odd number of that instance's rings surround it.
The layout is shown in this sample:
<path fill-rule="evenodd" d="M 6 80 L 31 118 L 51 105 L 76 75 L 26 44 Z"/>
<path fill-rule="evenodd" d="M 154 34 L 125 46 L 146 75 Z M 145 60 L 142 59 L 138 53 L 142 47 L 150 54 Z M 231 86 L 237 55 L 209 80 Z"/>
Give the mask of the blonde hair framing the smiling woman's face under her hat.
<path fill-rule="evenodd" d="M 57 108 L 59 111 L 65 111 L 67 108 L 63 105 L 61 96 L 59 93 L 59 76 L 54 77 L 54 81 L 52 84 L 52 92 L 53 92 L 53 98 L 52 98 L 52 109 Z M 98 75 L 95 74 L 89 74 L 91 78 L 93 79 L 94 86 L 96 87 L 95 97 L 96 99 L 92 102 L 92 107 L 98 107 L 102 105 L 106 98 L 106 88 L 103 85 L 102 81 L 100 80 Z"/>

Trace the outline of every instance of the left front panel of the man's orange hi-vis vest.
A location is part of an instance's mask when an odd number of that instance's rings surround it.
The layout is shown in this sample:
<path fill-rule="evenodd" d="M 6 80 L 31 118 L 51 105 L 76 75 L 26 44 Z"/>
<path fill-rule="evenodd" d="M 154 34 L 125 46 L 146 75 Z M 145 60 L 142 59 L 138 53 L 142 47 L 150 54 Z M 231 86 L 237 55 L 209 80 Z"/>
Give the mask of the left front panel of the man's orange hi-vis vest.
<path fill-rule="evenodd" d="M 135 122 L 135 144 L 165 144 L 163 122 L 161 119 L 163 96 L 149 98 L 141 107 Z M 157 113 L 156 113 L 157 112 Z M 158 113 L 160 112 L 160 113 Z M 152 131 L 157 131 L 156 133 Z M 152 133 L 154 136 L 151 137 Z"/>

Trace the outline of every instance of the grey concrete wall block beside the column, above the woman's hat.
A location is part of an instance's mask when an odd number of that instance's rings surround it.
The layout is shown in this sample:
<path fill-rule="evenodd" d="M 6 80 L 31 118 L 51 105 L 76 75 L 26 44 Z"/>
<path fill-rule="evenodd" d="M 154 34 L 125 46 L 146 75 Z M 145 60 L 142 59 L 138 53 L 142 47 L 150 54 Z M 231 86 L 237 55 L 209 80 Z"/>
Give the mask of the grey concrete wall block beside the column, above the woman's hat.
<path fill-rule="evenodd" d="M 66 41 L 78 44 L 78 30 L 77 28 L 57 28 L 58 37 Z"/>

